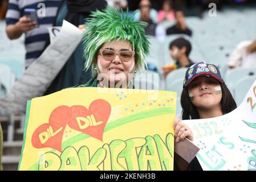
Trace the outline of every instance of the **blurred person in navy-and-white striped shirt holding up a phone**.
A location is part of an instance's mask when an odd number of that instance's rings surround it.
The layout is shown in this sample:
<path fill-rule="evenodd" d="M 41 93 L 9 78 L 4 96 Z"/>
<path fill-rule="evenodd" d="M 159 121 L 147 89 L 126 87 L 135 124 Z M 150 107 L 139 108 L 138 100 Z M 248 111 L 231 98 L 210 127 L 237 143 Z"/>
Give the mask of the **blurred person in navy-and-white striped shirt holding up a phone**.
<path fill-rule="evenodd" d="M 44 44 L 48 38 L 47 27 L 52 26 L 57 9 L 62 1 L 42 0 L 10 0 L 6 14 L 6 33 L 10 39 L 18 39 L 25 33 L 26 63 L 25 67 L 38 58 L 44 51 Z M 38 4 L 46 7 L 45 16 L 38 18 L 38 24 L 24 15 L 25 9 L 39 9 Z M 42 7 L 43 8 L 43 7 Z"/>

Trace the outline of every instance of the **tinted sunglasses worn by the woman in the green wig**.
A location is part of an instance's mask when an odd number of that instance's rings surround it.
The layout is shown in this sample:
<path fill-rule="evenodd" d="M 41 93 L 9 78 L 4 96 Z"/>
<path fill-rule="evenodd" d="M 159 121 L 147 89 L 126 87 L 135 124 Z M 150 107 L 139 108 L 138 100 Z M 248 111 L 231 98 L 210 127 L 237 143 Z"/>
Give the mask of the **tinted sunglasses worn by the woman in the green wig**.
<path fill-rule="evenodd" d="M 100 55 L 107 61 L 112 61 L 113 59 L 115 59 L 116 55 L 118 55 L 121 61 L 128 62 L 135 55 L 135 52 L 134 51 L 115 52 L 108 49 L 100 49 Z"/>

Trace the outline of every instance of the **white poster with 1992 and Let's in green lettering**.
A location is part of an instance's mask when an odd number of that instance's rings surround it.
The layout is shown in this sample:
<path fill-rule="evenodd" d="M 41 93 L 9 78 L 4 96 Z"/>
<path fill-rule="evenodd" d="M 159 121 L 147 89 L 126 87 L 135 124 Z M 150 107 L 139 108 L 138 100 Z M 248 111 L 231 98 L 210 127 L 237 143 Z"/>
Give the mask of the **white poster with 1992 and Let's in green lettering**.
<path fill-rule="evenodd" d="M 204 170 L 256 170 L 256 81 L 237 109 L 221 117 L 184 120 Z"/>

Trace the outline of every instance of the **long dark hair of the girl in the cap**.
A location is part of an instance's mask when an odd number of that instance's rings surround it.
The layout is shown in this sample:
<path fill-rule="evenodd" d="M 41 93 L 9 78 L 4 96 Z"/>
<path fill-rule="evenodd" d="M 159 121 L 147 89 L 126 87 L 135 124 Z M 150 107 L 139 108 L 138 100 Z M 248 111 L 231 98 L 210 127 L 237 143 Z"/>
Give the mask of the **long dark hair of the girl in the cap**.
<path fill-rule="evenodd" d="M 221 85 L 222 90 L 222 98 L 221 98 L 221 110 L 223 114 L 230 113 L 235 108 L 237 108 L 237 104 L 235 104 L 234 98 L 230 93 L 227 86 L 224 84 Z M 182 119 L 200 119 L 199 113 L 197 111 L 196 106 L 192 104 L 188 94 L 188 87 L 184 88 L 181 93 L 181 106 L 182 106 Z"/>

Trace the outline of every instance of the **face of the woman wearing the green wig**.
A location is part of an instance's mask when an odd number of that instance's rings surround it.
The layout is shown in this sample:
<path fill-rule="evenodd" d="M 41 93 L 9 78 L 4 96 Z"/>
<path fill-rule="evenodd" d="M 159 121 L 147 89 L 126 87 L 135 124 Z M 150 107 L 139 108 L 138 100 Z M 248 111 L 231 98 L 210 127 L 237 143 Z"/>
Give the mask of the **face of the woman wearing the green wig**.
<path fill-rule="evenodd" d="M 128 87 L 129 80 L 132 77 L 132 74 L 135 71 L 136 63 L 134 55 L 129 61 L 122 61 L 125 60 L 125 57 L 131 56 L 131 52 L 123 52 L 120 55 L 123 57 L 119 57 L 119 55 L 114 55 L 113 60 L 106 60 L 107 57 L 113 55 L 113 52 L 106 52 L 105 50 L 111 50 L 114 52 L 121 52 L 121 51 L 133 51 L 131 43 L 127 40 L 114 40 L 110 42 L 106 42 L 100 48 L 101 54 L 97 56 L 97 73 L 101 73 L 104 78 L 107 78 L 108 84 L 110 86 L 105 85 L 107 87 L 116 86 L 118 88 L 126 88 Z M 105 52 L 102 52 L 102 49 Z M 105 56 L 105 59 L 104 57 Z M 106 81 L 106 80 L 105 80 Z M 112 85 L 111 84 L 115 84 Z M 122 86 L 117 84 L 123 84 Z"/>

